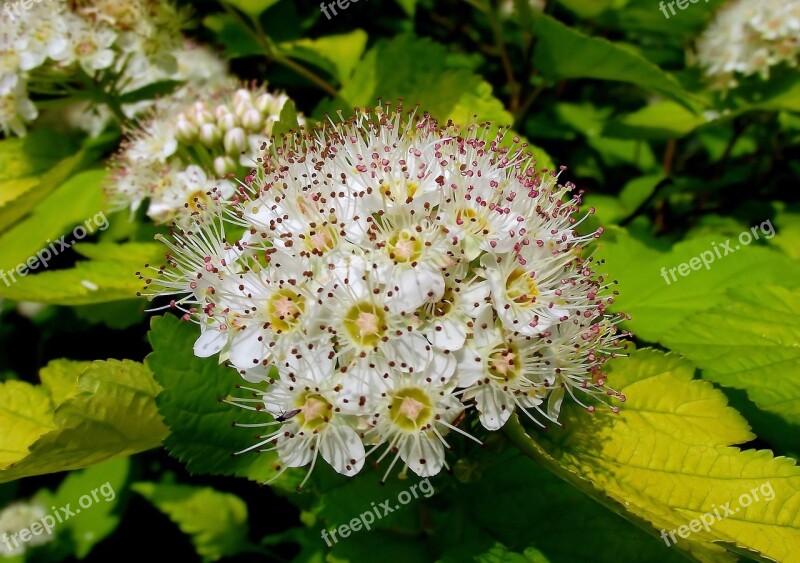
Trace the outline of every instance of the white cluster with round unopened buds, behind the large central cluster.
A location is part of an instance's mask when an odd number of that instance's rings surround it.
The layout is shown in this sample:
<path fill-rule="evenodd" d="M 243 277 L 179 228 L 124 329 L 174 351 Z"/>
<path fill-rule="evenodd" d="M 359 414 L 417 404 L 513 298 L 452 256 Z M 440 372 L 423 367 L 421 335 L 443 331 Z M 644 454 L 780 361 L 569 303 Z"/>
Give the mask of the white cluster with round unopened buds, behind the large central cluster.
<path fill-rule="evenodd" d="M 112 163 L 112 207 L 135 211 L 148 199 L 147 215 L 167 223 L 228 199 L 235 185 L 226 177 L 256 165 L 288 100 L 265 86 L 231 83 L 211 92 L 185 87 L 160 100 Z"/>

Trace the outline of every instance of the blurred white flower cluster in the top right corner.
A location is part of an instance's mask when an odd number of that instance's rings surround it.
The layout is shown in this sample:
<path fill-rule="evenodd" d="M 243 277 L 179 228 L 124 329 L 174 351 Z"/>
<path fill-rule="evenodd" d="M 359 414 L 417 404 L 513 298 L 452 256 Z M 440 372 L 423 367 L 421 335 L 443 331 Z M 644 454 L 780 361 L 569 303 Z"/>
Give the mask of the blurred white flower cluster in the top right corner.
<path fill-rule="evenodd" d="M 800 0 L 732 0 L 697 42 L 697 61 L 720 88 L 800 58 Z"/>

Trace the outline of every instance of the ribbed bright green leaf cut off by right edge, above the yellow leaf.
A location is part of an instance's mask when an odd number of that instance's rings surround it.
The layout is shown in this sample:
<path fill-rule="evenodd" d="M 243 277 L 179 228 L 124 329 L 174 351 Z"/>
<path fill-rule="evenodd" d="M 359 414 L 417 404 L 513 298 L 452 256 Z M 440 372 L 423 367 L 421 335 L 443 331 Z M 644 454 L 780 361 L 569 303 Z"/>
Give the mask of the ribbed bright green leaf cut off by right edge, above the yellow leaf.
<path fill-rule="evenodd" d="M 800 424 L 800 290 L 732 289 L 719 306 L 678 324 L 663 340 L 702 368 L 703 377 L 744 389 L 762 409 Z"/>

